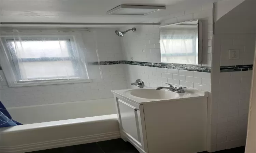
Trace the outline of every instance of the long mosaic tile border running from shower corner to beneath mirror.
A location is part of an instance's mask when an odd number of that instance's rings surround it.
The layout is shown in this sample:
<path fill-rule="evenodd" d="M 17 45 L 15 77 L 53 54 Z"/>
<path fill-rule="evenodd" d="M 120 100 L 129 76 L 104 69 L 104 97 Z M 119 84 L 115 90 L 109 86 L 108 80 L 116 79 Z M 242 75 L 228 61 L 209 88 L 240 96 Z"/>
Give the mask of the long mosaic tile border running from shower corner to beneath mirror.
<path fill-rule="evenodd" d="M 197 66 L 197 65 L 186 65 L 186 64 L 172 64 L 172 63 L 150 63 L 150 62 L 136 62 L 136 61 L 104 61 L 100 62 L 100 65 L 113 65 L 113 64 L 129 64 L 129 65 L 140 65 L 149 67 L 159 67 L 167 69 L 178 69 L 187 71 L 197 72 L 211 72 L 209 66 Z M 91 62 L 89 65 L 99 65 L 99 62 Z"/>

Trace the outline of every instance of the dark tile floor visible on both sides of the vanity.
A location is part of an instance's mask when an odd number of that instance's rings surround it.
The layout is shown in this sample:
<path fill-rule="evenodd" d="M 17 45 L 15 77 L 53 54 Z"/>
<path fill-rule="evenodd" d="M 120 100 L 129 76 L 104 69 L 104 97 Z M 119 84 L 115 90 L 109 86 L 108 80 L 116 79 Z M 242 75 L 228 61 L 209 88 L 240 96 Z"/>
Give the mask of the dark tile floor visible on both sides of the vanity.
<path fill-rule="evenodd" d="M 245 147 L 238 147 L 214 153 L 244 153 Z M 82 145 L 47 149 L 29 153 L 139 153 L 129 142 L 113 139 Z M 208 153 L 206 151 L 200 153 Z"/>

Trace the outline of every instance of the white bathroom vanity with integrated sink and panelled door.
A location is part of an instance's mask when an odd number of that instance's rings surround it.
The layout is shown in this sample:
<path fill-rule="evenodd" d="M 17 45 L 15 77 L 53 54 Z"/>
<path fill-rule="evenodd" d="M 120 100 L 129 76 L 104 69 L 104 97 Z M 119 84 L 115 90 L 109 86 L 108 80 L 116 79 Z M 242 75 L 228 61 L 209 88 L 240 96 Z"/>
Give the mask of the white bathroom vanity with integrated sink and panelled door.
<path fill-rule="evenodd" d="M 140 153 L 206 150 L 207 91 L 114 90 L 121 137 Z"/>

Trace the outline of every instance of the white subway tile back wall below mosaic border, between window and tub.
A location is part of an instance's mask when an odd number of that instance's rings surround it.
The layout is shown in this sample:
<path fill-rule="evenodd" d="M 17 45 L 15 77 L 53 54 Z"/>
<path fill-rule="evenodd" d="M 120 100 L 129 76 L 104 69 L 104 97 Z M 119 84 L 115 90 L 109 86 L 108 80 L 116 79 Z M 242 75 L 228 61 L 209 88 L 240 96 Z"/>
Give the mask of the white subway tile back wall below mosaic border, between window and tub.
<path fill-rule="evenodd" d="M 52 103 L 111 98 L 111 90 L 126 89 L 124 64 L 101 65 L 104 79 L 93 79 L 91 83 L 45 85 L 9 88 L 1 70 L 1 102 L 6 107 L 43 105 Z"/>

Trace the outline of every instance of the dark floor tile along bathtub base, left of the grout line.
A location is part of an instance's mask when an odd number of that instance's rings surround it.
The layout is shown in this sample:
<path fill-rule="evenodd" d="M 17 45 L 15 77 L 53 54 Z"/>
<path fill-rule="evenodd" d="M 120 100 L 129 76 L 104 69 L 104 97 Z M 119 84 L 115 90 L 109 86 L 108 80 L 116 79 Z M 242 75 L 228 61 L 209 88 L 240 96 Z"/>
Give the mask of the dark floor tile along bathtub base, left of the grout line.
<path fill-rule="evenodd" d="M 30 153 L 104 153 L 97 143 L 86 143 L 82 145 L 53 148 L 34 151 Z"/>

